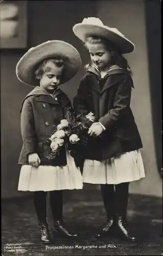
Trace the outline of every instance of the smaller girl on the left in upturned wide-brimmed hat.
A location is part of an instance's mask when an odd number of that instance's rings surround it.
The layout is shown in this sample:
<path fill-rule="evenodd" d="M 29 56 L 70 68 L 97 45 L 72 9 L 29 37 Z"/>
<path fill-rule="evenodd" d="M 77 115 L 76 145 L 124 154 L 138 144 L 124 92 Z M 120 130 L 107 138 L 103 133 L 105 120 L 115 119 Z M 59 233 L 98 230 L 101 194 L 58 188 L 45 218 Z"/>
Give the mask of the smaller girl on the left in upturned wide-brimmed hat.
<path fill-rule="evenodd" d="M 42 243 L 51 242 L 46 221 L 47 191 L 50 191 L 53 233 L 71 238 L 77 236 L 64 226 L 62 190 L 82 189 L 82 175 L 64 145 L 58 157 L 48 159 L 46 154 L 51 151 L 47 139 L 53 126 L 64 119 L 68 109 L 72 110 L 69 98 L 58 86 L 71 79 L 80 65 L 79 53 L 73 46 L 51 40 L 31 48 L 16 66 L 18 79 L 35 87 L 21 106 L 23 146 L 18 162 L 22 165 L 18 190 L 34 192 Z"/>

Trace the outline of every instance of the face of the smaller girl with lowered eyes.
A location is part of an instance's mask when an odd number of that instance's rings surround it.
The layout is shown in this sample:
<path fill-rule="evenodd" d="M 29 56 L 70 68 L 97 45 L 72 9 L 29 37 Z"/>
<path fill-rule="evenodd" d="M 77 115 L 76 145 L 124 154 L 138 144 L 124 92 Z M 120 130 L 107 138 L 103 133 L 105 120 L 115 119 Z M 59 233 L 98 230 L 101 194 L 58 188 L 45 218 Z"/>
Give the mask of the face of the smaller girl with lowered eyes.
<path fill-rule="evenodd" d="M 59 68 L 55 63 L 48 61 L 43 69 L 44 73 L 40 77 L 40 87 L 49 93 L 53 93 L 60 84 L 63 67 Z"/>

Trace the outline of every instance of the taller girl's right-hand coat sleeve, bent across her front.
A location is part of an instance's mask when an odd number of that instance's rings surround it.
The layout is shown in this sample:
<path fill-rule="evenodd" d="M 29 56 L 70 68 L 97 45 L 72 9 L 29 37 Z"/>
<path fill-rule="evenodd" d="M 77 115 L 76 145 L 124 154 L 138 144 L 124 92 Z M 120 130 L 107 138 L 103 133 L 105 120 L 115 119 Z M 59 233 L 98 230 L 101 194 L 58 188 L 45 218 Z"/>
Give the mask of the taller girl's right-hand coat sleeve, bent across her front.
<path fill-rule="evenodd" d="M 99 122 L 104 125 L 106 129 L 111 129 L 116 126 L 116 122 L 122 117 L 123 113 L 130 105 L 131 99 L 131 77 L 125 78 L 119 85 L 115 95 L 113 109 L 108 111 L 106 115 L 99 119 Z M 125 121 L 125 120 L 124 120 Z"/>

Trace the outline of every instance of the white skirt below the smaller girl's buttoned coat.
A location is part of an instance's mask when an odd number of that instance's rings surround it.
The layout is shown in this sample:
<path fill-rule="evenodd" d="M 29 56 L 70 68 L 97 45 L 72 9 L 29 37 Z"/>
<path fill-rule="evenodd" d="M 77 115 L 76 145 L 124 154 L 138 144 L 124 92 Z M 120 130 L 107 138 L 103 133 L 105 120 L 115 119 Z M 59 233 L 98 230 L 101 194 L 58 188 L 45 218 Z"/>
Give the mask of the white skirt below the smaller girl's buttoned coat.
<path fill-rule="evenodd" d="M 66 150 L 67 165 L 47 166 L 38 168 L 22 165 L 19 176 L 18 190 L 21 191 L 52 191 L 63 189 L 82 189 L 83 180 L 80 169 Z"/>

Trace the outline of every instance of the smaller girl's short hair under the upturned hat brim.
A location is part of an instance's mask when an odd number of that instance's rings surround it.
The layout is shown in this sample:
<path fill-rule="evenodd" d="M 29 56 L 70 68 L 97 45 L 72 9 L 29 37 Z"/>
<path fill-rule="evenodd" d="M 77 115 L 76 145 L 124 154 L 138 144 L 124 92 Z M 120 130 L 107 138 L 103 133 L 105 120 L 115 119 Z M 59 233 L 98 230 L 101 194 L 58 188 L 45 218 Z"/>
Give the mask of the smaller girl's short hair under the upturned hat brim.
<path fill-rule="evenodd" d="M 42 62 L 40 62 L 38 64 L 38 66 L 35 69 L 35 77 L 36 77 L 36 79 L 40 79 L 40 77 L 42 76 L 42 74 L 44 72 L 50 71 L 49 67 L 44 69 L 45 65 L 48 62 L 54 63 L 56 65 L 56 67 L 58 67 L 58 68 L 63 68 L 63 69 L 65 68 L 65 64 L 64 64 L 64 60 L 63 59 L 60 59 L 60 58 L 55 58 L 55 59 L 49 58 L 49 59 L 43 60 Z"/>

